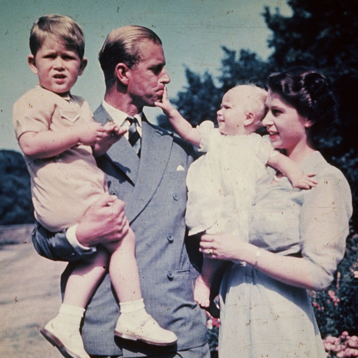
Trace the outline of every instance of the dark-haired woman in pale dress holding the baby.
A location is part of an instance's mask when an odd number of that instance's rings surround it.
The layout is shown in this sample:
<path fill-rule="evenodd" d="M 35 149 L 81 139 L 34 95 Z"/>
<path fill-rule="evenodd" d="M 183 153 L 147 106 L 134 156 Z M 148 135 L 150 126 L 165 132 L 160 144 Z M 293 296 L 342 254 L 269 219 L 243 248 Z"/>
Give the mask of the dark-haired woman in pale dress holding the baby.
<path fill-rule="evenodd" d="M 248 243 L 228 235 L 203 235 L 200 251 L 232 260 L 221 284 L 219 355 L 325 357 L 306 289 L 321 290 L 342 260 L 352 198 L 343 174 L 314 149 L 317 133 L 334 122 L 328 80 L 306 68 L 268 78 L 263 120 L 272 145 L 318 185 L 293 189 L 267 168 L 257 183 Z"/>

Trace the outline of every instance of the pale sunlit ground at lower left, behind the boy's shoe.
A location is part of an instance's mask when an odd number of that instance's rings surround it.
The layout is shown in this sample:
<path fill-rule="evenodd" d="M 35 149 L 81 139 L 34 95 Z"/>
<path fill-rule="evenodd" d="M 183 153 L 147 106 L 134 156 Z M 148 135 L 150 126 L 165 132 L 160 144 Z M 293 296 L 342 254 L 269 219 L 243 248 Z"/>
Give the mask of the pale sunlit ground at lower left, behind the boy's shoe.
<path fill-rule="evenodd" d="M 40 328 L 61 305 L 65 266 L 39 256 L 31 242 L 0 246 L 0 357 L 63 358 Z"/>

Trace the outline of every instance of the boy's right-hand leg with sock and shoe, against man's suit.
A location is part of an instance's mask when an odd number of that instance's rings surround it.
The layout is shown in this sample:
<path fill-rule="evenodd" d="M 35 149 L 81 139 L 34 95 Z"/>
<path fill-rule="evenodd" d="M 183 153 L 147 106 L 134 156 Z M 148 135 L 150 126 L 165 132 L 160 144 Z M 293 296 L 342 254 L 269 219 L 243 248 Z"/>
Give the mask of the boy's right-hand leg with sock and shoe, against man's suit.
<path fill-rule="evenodd" d="M 156 345 L 174 344 L 177 340 L 176 335 L 161 328 L 145 310 L 135 258 L 135 235 L 132 229 L 129 229 L 121 241 L 105 247 L 112 252 L 110 276 L 121 310 L 115 335 Z"/>

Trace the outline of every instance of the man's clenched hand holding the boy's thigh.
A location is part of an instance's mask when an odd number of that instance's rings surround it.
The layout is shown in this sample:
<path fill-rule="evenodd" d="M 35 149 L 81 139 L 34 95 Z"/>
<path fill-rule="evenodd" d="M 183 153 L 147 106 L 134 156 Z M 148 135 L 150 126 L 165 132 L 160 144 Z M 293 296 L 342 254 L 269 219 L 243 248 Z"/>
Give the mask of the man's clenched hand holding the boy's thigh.
<path fill-rule="evenodd" d="M 103 194 L 81 218 L 76 229 L 78 242 L 89 247 L 120 241 L 129 230 L 124 206 L 115 195 Z"/>

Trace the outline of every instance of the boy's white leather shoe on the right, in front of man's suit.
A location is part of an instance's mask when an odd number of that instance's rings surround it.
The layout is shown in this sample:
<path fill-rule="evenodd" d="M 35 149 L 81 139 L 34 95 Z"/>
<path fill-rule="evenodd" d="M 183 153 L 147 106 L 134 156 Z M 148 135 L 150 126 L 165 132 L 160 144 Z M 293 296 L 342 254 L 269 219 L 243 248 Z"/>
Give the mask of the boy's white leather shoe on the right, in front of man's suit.
<path fill-rule="evenodd" d="M 138 324 L 128 324 L 124 315 L 120 315 L 114 334 L 118 337 L 141 340 L 154 345 L 173 345 L 178 340 L 175 333 L 161 328 L 158 322 L 151 316 L 147 315 Z"/>

